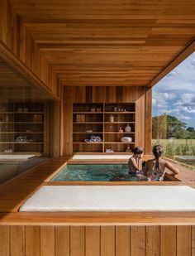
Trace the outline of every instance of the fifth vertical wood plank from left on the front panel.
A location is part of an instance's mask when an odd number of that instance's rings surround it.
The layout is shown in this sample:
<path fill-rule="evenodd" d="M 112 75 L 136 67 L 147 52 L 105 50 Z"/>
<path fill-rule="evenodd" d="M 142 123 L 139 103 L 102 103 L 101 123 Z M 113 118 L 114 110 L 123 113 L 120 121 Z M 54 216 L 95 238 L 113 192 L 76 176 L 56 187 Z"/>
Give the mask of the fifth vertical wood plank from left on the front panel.
<path fill-rule="evenodd" d="M 55 256 L 69 256 L 69 226 L 55 227 Z"/>

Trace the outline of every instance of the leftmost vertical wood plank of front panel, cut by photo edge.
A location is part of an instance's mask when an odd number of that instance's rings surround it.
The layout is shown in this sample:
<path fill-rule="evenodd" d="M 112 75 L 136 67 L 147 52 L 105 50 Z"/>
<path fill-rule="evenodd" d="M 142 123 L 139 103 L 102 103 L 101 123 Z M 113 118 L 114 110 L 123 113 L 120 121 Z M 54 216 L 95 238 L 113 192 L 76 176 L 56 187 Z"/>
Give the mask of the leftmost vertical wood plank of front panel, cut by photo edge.
<path fill-rule="evenodd" d="M 0 255 L 10 256 L 10 226 L 0 226 Z"/>

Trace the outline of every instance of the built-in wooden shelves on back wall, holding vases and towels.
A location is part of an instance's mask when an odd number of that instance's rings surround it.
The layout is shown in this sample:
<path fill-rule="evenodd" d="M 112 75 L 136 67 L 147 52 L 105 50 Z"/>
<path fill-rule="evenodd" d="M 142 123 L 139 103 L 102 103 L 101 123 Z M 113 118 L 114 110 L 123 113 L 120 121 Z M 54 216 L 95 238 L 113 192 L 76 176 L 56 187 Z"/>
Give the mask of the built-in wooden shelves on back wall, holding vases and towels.
<path fill-rule="evenodd" d="M 111 122 L 112 115 L 112 122 Z M 126 125 L 131 132 L 125 132 Z M 136 141 L 136 104 L 74 104 L 73 150 L 74 152 L 126 152 Z M 119 132 L 119 129 L 123 133 Z M 93 142 L 93 136 L 101 138 Z M 132 142 L 121 142 L 121 137 L 131 137 Z"/>

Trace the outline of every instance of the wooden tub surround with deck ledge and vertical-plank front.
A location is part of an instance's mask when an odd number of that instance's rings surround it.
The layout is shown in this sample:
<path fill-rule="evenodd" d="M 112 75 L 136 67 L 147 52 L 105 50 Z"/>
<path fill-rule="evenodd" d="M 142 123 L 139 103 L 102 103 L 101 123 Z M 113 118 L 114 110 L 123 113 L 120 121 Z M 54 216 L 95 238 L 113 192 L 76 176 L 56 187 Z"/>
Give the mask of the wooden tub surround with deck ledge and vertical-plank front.
<path fill-rule="evenodd" d="M 50 182 L 67 158 L 51 158 L 0 191 L 1 255 L 195 255 L 195 212 L 18 212 L 40 186 Z M 70 160 L 73 163 L 73 160 Z M 75 161 L 78 162 L 78 161 Z M 86 162 L 86 161 L 85 161 Z M 192 179 L 192 177 L 191 177 Z M 194 177 L 193 177 L 194 179 Z M 83 185 L 99 182 L 82 182 Z M 188 185 L 195 181 L 101 182 L 104 185 Z"/>

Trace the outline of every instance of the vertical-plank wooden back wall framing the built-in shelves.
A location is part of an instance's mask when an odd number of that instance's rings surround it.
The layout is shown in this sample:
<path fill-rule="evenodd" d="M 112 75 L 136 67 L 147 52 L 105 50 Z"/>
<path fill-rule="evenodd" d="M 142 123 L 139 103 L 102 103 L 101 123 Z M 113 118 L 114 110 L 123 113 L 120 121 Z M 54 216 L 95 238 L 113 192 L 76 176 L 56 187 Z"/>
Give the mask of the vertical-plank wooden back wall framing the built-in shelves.
<path fill-rule="evenodd" d="M 73 152 L 73 104 L 74 103 L 128 103 L 136 102 L 136 145 L 142 145 L 146 153 L 150 153 L 151 147 L 151 93 L 145 94 L 144 87 L 93 87 L 93 86 L 66 86 L 64 87 L 63 115 L 61 123 L 64 129 L 61 131 L 60 141 L 64 147 L 61 148 L 60 155 Z M 146 106 L 146 107 L 145 107 Z M 62 106 L 63 108 L 63 106 Z M 145 118 L 147 117 L 147 118 Z M 61 128 L 63 128 L 61 127 Z M 145 137 L 145 133 L 147 136 Z"/>

